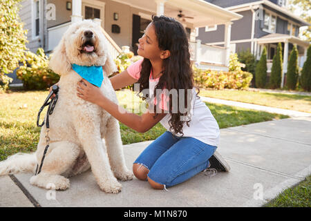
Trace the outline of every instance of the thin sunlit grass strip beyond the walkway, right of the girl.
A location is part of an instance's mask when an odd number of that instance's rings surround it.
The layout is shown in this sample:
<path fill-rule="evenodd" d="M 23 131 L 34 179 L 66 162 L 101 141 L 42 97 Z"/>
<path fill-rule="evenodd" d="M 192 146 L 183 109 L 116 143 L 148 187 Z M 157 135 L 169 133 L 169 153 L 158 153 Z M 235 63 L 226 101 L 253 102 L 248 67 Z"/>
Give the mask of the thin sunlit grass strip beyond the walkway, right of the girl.
<path fill-rule="evenodd" d="M 199 96 L 227 99 L 235 102 L 245 102 L 283 108 L 293 111 L 311 113 L 311 96 L 288 95 L 282 93 L 254 92 L 247 90 L 207 90 L 200 89 Z"/>

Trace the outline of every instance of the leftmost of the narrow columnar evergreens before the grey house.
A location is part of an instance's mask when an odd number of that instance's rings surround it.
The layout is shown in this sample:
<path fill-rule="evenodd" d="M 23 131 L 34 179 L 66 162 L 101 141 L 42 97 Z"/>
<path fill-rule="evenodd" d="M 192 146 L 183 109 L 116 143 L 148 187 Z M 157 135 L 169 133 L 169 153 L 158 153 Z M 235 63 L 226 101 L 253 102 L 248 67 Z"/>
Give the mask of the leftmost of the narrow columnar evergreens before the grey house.
<path fill-rule="evenodd" d="M 261 59 L 258 61 L 255 68 L 256 88 L 265 88 L 265 81 L 267 81 L 267 50 L 263 47 Z"/>

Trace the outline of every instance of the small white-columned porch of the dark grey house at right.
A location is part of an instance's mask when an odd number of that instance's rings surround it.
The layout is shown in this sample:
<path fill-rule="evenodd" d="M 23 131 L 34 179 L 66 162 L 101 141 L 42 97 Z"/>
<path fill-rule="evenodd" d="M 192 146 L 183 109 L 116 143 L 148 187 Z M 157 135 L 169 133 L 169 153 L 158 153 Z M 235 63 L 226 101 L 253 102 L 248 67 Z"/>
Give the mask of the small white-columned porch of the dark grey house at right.
<path fill-rule="evenodd" d="M 257 59 L 261 56 L 261 52 L 263 51 L 263 47 L 267 49 L 267 76 L 269 77 L 272 69 L 272 61 L 273 57 L 276 53 L 277 44 L 281 42 L 282 44 L 282 55 L 283 55 L 283 70 L 281 77 L 281 88 L 283 88 L 285 84 L 286 73 L 288 72 L 288 57 L 290 56 L 290 52 L 294 45 L 298 50 L 298 66 L 299 68 L 303 67 L 305 60 L 307 59 L 307 50 L 310 43 L 308 41 L 303 41 L 298 37 L 283 35 L 283 34 L 270 34 L 261 37 L 260 39 L 256 39 L 257 44 Z"/>

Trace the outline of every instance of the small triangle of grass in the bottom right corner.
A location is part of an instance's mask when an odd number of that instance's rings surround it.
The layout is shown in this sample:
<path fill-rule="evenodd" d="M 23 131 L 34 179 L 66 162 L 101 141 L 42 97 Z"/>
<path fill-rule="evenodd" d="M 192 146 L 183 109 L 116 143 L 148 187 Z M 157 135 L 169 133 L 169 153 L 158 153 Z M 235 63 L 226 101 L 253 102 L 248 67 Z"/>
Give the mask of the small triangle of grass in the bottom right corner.
<path fill-rule="evenodd" d="M 310 207 L 311 175 L 299 184 L 285 189 L 282 193 L 270 200 L 265 207 Z"/>

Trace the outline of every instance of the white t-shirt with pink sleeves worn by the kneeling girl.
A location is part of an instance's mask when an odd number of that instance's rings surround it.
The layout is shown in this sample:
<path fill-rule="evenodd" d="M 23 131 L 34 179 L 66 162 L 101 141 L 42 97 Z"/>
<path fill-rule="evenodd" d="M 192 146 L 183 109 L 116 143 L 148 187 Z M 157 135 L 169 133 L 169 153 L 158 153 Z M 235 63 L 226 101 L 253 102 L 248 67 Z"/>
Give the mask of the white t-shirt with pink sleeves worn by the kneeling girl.
<path fill-rule="evenodd" d="M 140 70 L 143 59 L 136 61 L 134 64 L 131 64 L 126 70 L 131 75 L 131 77 L 135 79 L 140 78 Z M 152 70 L 149 77 L 149 94 L 153 95 L 153 90 L 158 84 L 160 77 L 157 79 L 152 79 Z M 191 121 L 189 122 L 189 126 L 187 126 L 187 122 L 185 122 L 182 133 L 184 133 L 184 137 L 194 137 L 205 144 L 209 144 L 212 146 L 218 146 L 220 139 L 220 130 L 216 119 L 211 114 L 211 111 L 206 106 L 204 102 L 200 98 L 196 97 L 196 90 L 192 88 L 193 99 L 191 103 Z M 167 97 L 162 97 L 162 102 L 160 103 L 160 108 L 163 110 L 167 110 Z M 156 104 L 156 101 L 154 102 Z M 169 119 L 171 119 L 171 114 L 167 114 L 160 120 L 160 124 L 164 126 L 164 128 L 169 131 Z M 172 132 L 172 131 L 171 131 Z M 175 134 L 180 137 L 182 134 Z"/>

